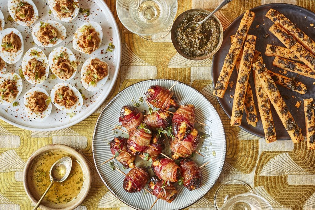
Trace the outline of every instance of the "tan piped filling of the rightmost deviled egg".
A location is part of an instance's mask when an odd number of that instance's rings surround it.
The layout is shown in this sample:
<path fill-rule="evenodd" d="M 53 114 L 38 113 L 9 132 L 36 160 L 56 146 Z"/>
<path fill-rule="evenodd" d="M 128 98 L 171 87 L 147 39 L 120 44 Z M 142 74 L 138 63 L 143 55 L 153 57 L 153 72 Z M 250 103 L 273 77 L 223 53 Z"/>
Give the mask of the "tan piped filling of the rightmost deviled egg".
<path fill-rule="evenodd" d="M 107 64 L 98 58 L 92 59 L 85 74 L 84 81 L 87 84 L 95 85 L 96 82 L 107 76 Z"/>

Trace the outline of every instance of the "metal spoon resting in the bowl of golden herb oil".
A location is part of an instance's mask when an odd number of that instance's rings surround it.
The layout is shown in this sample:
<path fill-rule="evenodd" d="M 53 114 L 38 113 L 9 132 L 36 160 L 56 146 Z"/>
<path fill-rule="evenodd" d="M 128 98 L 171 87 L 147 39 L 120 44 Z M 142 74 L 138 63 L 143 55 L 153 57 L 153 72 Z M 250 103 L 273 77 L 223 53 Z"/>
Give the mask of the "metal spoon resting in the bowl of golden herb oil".
<path fill-rule="evenodd" d="M 49 171 L 50 184 L 47 190 L 44 192 L 43 196 L 37 202 L 36 206 L 33 208 L 33 210 L 38 208 L 43 198 L 46 196 L 47 192 L 55 182 L 63 182 L 68 178 L 71 167 L 72 159 L 70 157 L 62 157 L 51 166 Z"/>

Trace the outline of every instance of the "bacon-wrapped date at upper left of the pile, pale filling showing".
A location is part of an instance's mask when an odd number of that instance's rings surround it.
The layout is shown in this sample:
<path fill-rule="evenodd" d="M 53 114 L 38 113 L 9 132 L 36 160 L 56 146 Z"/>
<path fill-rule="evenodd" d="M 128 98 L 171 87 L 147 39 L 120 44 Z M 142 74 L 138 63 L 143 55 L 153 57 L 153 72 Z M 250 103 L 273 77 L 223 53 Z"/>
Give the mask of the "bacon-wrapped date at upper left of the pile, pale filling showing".
<path fill-rule="evenodd" d="M 130 133 L 137 128 L 143 120 L 143 114 L 133 106 L 123 106 L 120 111 L 119 122 Z"/>

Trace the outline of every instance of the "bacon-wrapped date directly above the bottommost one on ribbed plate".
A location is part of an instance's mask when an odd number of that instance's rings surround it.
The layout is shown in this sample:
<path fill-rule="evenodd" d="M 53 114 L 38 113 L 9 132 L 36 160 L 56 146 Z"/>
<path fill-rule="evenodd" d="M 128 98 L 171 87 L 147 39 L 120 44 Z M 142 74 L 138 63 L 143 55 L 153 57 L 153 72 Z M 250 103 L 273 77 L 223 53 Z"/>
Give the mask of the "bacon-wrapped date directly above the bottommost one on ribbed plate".
<path fill-rule="evenodd" d="M 180 167 L 168 158 L 157 159 L 152 162 L 152 170 L 159 179 L 177 182 L 180 176 Z"/>

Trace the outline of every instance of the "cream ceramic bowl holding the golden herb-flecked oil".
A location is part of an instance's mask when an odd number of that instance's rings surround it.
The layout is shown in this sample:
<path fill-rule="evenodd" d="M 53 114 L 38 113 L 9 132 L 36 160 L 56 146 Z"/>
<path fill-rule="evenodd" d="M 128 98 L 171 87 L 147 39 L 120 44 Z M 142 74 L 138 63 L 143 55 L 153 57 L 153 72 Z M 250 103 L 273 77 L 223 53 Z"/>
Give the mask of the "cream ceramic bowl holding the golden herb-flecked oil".
<path fill-rule="evenodd" d="M 34 203 L 38 202 L 38 200 L 33 196 L 32 192 L 30 190 L 30 186 L 28 183 L 28 172 L 31 168 L 31 165 L 32 165 L 34 159 L 37 156 L 39 156 L 40 154 L 42 154 L 43 152 L 46 152 L 49 150 L 62 150 L 66 153 L 71 154 L 74 158 L 76 158 L 82 167 L 82 172 L 83 172 L 83 176 L 85 177 L 85 179 L 83 182 L 82 189 L 75 200 L 70 201 L 70 202 L 65 203 L 65 204 L 53 204 L 53 203 L 47 204 L 47 202 L 45 202 L 45 205 L 41 204 L 39 206 L 39 208 L 41 208 L 41 209 L 58 209 L 58 210 L 60 210 L 60 209 L 63 209 L 63 210 L 74 209 L 74 208 L 78 207 L 83 202 L 85 197 L 89 194 L 89 191 L 91 188 L 91 172 L 90 172 L 90 168 L 89 168 L 88 162 L 86 161 L 85 157 L 81 153 L 79 153 L 77 150 L 75 150 L 72 147 L 67 146 L 67 145 L 61 145 L 61 144 L 46 145 L 46 146 L 43 146 L 42 148 L 38 149 L 37 151 L 35 151 L 28 158 L 28 160 L 26 162 L 26 166 L 24 168 L 24 173 L 23 173 L 23 177 L 24 177 L 23 184 L 24 184 L 24 189 L 26 191 L 26 194 L 29 196 L 31 201 L 33 201 Z"/>

